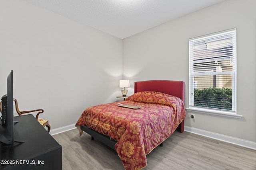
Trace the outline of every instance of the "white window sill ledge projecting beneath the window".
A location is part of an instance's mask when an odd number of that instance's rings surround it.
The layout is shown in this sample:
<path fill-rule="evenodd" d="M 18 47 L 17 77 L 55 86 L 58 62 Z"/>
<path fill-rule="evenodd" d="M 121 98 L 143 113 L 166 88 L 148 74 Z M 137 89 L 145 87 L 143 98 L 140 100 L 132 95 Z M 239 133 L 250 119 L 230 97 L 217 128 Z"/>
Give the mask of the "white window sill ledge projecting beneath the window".
<path fill-rule="evenodd" d="M 210 114 L 210 115 L 233 117 L 233 118 L 237 118 L 237 119 L 240 119 L 241 117 L 243 117 L 243 115 L 238 115 L 236 113 L 231 113 L 228 111 L 217 111 L 217 110 L 201 109 L 201 108 L 196 108 L 196 107 L 189 107 L 189 108 L 186 108 L 186 110 L 194 111 L 194 112 L 198 112 L 198 113 L 206 113 L 206 114 Z"/>

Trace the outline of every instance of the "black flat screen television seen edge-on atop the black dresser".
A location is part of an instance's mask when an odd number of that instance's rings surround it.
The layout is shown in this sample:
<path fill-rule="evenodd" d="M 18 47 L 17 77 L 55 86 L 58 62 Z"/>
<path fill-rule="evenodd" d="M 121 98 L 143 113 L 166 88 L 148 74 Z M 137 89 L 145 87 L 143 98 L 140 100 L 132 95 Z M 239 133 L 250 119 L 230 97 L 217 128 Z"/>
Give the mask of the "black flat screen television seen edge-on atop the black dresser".
<path fill-rule="evenodd" d="M 13 121 L 13 70 L 7 77 L 7 94 L 2 96 L 2 119 L 0 121 L 0 143 L 12 145 L 14 142 Z M 22 142 L 21 142 L 22 143 Z"/>

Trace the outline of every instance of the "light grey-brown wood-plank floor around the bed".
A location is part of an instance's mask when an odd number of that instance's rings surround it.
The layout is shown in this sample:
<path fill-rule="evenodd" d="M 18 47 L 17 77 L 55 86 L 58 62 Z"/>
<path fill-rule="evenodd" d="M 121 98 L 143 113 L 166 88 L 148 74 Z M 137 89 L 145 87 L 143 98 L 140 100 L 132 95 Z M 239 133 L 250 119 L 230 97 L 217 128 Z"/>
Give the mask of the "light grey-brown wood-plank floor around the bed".
<path fill-rule="evenodd" d="M 124 170 L 115 150 L 77 129 L 53 136 L 62 145 L 63 170 Z M 147 155 L 143 170 L 256 170 L 256 150 L 193 133 L 174 132 Z"/>

